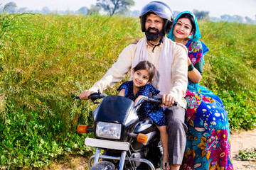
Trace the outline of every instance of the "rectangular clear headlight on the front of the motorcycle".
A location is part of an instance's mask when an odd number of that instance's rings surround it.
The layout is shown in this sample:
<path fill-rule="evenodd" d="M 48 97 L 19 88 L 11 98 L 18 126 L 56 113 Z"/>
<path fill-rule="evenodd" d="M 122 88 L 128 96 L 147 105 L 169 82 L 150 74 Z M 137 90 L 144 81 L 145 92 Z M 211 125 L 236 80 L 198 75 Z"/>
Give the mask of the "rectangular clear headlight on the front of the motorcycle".
<path fill-rule="evenodd" d="M 106 139 L 119 140 L 121 138 L 121 129 L 121 124 L 97 122 L 96 135 Z"/>

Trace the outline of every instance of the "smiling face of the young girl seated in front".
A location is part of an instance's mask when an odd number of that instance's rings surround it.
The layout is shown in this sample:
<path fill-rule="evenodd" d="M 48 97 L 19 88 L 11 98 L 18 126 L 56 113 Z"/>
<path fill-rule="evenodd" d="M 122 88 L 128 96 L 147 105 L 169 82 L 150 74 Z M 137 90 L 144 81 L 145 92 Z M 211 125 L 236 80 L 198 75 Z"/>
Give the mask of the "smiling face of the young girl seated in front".
<path fill-rule="evenodd" d="M 132 69 L 132 81 L 135 87 L 139 88 L 148 84 L 149 81 L 149 72 L 146 69 L 139 69 L 134 72 Z"/>

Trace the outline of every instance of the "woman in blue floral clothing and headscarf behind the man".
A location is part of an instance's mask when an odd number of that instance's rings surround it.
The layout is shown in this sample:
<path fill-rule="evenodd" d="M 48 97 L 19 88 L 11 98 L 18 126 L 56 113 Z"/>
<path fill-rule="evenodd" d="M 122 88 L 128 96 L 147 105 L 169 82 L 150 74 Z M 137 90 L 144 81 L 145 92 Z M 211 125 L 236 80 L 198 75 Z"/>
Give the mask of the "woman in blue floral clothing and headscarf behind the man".
<path fill-rule="evenodd" d="M 188 132 L 183 169 L 233 169 L 228 115 L 220 98 L 199 85 L 208 48 L 199 40 L 196 16 L 190 11 L 179 13 L 167 37 L 188 49 Z"/>

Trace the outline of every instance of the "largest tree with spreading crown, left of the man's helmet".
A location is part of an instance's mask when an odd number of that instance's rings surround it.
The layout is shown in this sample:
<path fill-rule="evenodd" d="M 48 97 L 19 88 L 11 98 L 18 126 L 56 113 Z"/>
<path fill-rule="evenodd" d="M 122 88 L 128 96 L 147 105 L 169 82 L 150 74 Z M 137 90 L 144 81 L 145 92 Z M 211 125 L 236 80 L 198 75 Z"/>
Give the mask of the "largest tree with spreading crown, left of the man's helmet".
<path fill-rule="evenodd" d="M 97 6 L 103 8 L 104 11 L 110 13 L 110 16 L 114 13 L 126 11 L 130 6 L 134 6 L 133 0 L 97 0 Z"/>

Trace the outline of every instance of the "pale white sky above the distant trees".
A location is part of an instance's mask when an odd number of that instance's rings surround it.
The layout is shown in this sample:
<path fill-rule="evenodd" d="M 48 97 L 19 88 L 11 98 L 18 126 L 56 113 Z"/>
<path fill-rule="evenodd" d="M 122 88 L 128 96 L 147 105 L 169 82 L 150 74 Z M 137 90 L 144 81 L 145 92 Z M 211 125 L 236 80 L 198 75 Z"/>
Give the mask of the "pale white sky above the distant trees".
<path fill-rule="evenodd" d="M 26 7 L 33 10 L 41 10 L 44 6 L 56 11 L 78 11 L 86 6 L 90 8 L 97 0 L 0 0 L 0 4 L 15 2 L 18 8 Z M 131 11 L 140 10 L 145 4 L 153 0 L 134 0 L 135 5 Z M 255 19 L 256 0 L 159 0 L 168 4 L 172 11 L 209 11 L 209 16 L 218 17 L 228 14 L 230 16 L 248 16 Z"/>

